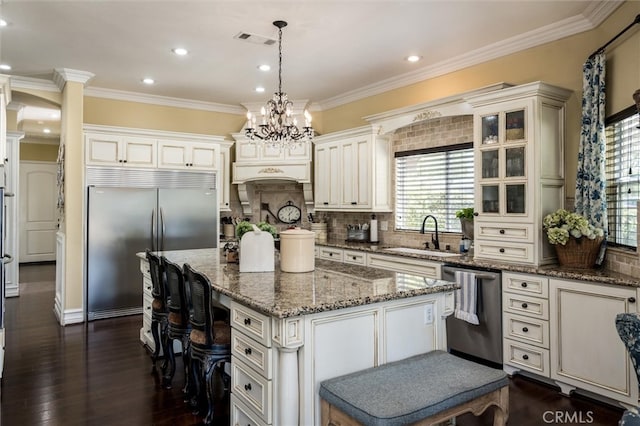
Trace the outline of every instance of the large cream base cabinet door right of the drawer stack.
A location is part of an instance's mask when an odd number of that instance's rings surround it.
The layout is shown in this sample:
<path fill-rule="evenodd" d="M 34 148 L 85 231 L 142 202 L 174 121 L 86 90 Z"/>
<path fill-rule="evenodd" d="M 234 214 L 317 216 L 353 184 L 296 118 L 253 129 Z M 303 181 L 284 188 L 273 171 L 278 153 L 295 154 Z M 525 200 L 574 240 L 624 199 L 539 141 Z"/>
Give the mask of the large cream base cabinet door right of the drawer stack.
<path fill-rule="evenodd" d="M 615 317 L 638 312 L 638 289 L 549 280 L 551 379 L 563 393 L 583 389 L 638 405 L 633 365 L 615 328 Z"/>

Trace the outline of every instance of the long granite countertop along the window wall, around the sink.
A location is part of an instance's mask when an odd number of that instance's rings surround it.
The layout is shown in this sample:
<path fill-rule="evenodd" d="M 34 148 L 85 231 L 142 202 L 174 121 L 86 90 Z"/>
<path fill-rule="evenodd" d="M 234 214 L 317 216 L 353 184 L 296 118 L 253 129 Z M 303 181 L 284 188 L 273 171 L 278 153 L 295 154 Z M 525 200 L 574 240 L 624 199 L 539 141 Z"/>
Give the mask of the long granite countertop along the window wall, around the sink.
<path fill-rule="evenodd" d="M 527 266 L 518 265 L 514 263 L 500 263 L 490 261 L 478 261 L 474 260 L 472 256 L 449 256 L 439 257 L 414 253 L 401 253 L 401 252 L 389 252 L 385 251 L 385 248 L 390 248 L 388 245 L 375 245 L 370 243 L 351 243 L 345 241 L 331 241 L 326 243 L 317 243 L 318 246 L 336 247 L 349 250 L 360 250 L 367 252 L 376 252 L 380 254 L 389 254 L 393 256 L 412 257 L 416 259 L 433 260 L 442 262 L 446 265 L 460 265 L 467 266 L 469 268 L 489 268 L 499 269 L 507 272 L 521 272 L 526 274 L 538 274 L 546 275 L 554 278 L 568 279 L 568 280 L 580 280 L 590 281 L 601 284 L 621 285 L 627 287 L 640 287 L 640 277 L 634 277 L 630 275 L 624 275 L 619 272 L 610 271 L 604 268 L 599 269 L 572 269 L 563 267 L 560 265 L 544 265 L 544 266 Z"/>

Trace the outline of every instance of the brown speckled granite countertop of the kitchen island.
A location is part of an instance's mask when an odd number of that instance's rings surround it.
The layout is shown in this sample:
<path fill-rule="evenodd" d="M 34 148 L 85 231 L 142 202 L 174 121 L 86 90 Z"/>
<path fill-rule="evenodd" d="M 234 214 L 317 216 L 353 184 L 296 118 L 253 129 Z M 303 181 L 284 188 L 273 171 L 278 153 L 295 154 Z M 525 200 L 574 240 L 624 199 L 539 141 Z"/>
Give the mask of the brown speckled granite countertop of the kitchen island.
<path fill-rule="evenodd" d="M 306 273 L 240 273 L 239 265 L 221 261 L 220 249 L 157 252 L 168 260 L 188 263 L 206 275 L 221 294 L 266 315 L 287 318 L 352 306 L 453 291 L 459 286 L 443 280 L 383 269 L 315 259 Z M 138 254 L 144 258 L 144 253 Z"/>

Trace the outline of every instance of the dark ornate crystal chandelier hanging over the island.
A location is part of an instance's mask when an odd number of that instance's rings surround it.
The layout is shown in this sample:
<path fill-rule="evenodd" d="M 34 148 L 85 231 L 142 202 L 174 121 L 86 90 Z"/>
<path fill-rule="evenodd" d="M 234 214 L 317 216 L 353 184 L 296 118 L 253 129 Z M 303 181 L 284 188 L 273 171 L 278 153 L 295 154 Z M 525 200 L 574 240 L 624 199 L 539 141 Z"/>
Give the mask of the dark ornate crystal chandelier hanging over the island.
<path fill-rule="evenodd" d="M 282 92 L 282 28 L 287 26 L 285 21 L 273 23 L 278 28 L 278 91 L 267 101 L 266 108 L 262 107 L 262 123 L 256 128 L 256 116 L 247 112 L 247 128 L 245 135 L 252 141 L 268 147 L 289 147 L 302 142 L 311 142 L 313 127 L 311 114 L 304 110 L 304 127 L 298 127 L 298 121 L 293 116 L 293 103 L 286 93 Z"/>

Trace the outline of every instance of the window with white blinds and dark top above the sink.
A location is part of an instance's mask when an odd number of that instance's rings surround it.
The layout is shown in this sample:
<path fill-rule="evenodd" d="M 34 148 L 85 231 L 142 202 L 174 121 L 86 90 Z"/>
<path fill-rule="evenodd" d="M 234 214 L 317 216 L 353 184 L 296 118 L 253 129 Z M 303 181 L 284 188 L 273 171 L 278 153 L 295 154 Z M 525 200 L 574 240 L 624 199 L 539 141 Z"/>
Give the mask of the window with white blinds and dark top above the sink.
<path fill-rule="evenodd" d="M 395 154 L 397 230 L 419 231 L 428 214 L 438 231 L 461 232 L 456 211 L 472 207 L 473 143 Z M 433 221 L 426 229 L 435 230 Z"/>

